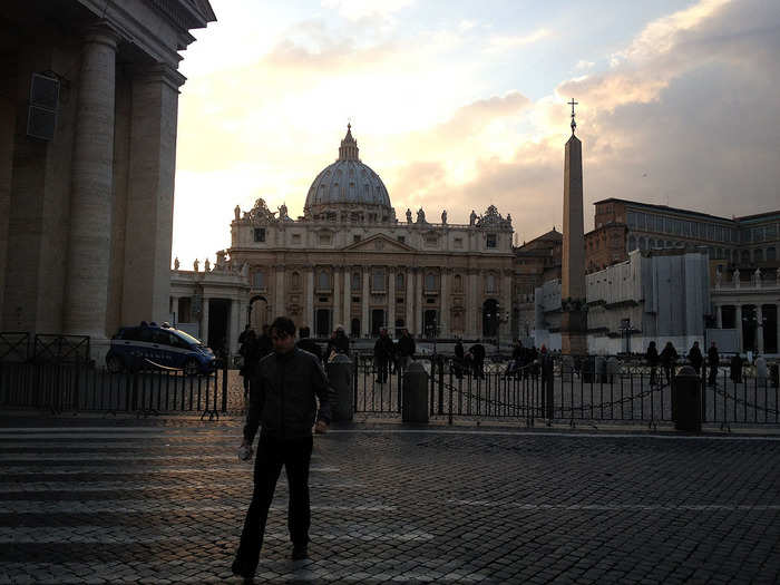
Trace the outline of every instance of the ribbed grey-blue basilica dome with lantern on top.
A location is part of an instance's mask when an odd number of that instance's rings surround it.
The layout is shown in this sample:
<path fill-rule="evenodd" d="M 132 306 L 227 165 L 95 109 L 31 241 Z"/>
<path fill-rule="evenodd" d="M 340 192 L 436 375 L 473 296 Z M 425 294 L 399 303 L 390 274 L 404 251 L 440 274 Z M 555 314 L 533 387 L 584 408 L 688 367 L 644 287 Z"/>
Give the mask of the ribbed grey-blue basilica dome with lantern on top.
<path fill-rule="evenodd" d="M 373 211 L 378 220 L 394 215 L 384 183 L 358 158 L 351 125 L 341 140 L 339 159 L 323 168 L 309 187 L 303 211 L 305 215 L 320 216 L 344 208 Z"/>

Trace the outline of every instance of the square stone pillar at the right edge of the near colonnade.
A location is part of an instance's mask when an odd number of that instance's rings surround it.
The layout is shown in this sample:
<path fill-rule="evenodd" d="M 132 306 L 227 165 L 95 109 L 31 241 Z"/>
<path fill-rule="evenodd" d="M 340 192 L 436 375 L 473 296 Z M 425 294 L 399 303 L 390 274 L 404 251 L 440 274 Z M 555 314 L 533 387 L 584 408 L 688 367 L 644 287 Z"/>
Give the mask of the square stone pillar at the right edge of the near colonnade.
<path fill-rule="evenodd" d="M 159 64 L 133 70 L 123 322 L 159 319 L 170 291 L 178 88 Z"/>

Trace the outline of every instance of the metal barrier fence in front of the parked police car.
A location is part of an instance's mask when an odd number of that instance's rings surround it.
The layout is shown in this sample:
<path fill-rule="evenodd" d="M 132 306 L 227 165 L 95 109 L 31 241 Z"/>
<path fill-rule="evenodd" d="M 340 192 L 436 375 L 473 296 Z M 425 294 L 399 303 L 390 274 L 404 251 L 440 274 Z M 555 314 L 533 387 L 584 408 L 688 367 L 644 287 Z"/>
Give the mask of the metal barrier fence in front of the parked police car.
<path fill-rule="evenodd" d="M 0 362 L 0 406 L 107 413 L 227 411 L 227 370 L 186 376 L 179 370 L 111 373 L 87 363 Z"/>

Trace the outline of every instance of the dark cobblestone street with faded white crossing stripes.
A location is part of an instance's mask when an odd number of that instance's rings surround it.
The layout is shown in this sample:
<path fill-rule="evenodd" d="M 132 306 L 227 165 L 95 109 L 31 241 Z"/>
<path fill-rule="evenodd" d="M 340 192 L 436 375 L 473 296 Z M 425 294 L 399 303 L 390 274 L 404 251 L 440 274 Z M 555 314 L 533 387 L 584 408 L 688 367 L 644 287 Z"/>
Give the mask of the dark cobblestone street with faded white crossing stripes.
<path fill-rule="evenodd" d="M 241 421 L 0 420 L 0 583 L 237 583 Z M 14 427 L 16 426 L 16 427 Z M 332 429 L 257 582 L 777 583 L 780 438 Z"/>

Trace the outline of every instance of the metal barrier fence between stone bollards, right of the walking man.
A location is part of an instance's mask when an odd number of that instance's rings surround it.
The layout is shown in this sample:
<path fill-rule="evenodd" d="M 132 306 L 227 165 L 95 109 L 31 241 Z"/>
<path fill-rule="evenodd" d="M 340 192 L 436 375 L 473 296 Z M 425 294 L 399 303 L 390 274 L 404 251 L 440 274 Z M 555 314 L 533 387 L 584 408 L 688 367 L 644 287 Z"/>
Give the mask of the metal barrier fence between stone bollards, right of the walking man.
<path fill-rule="evenodd" d="M 595 372 L 560 359 L 542 360 L 521 368 L 486 362 L 481 371 L 445 357 L 420 360 L 429 376 L 431 418 L 514 419 L 534 425 L 553 421 L 632 421 L 653 427 L 674 420 L 674 370 L 631 364 Z M 370 355 L 354 358 L 355 412 L 401 412 L 403 370 L 380 367 Z M 743 372 L 750 372 L 745 376 Z M 733 423 L 779 425 L 780 389 L 772 376 L 755 376 L 745 368 L 734 374 L 719 367 L 714 384 L 709 369 L 699 378 L 701 419 L 728 428 Z"/>

